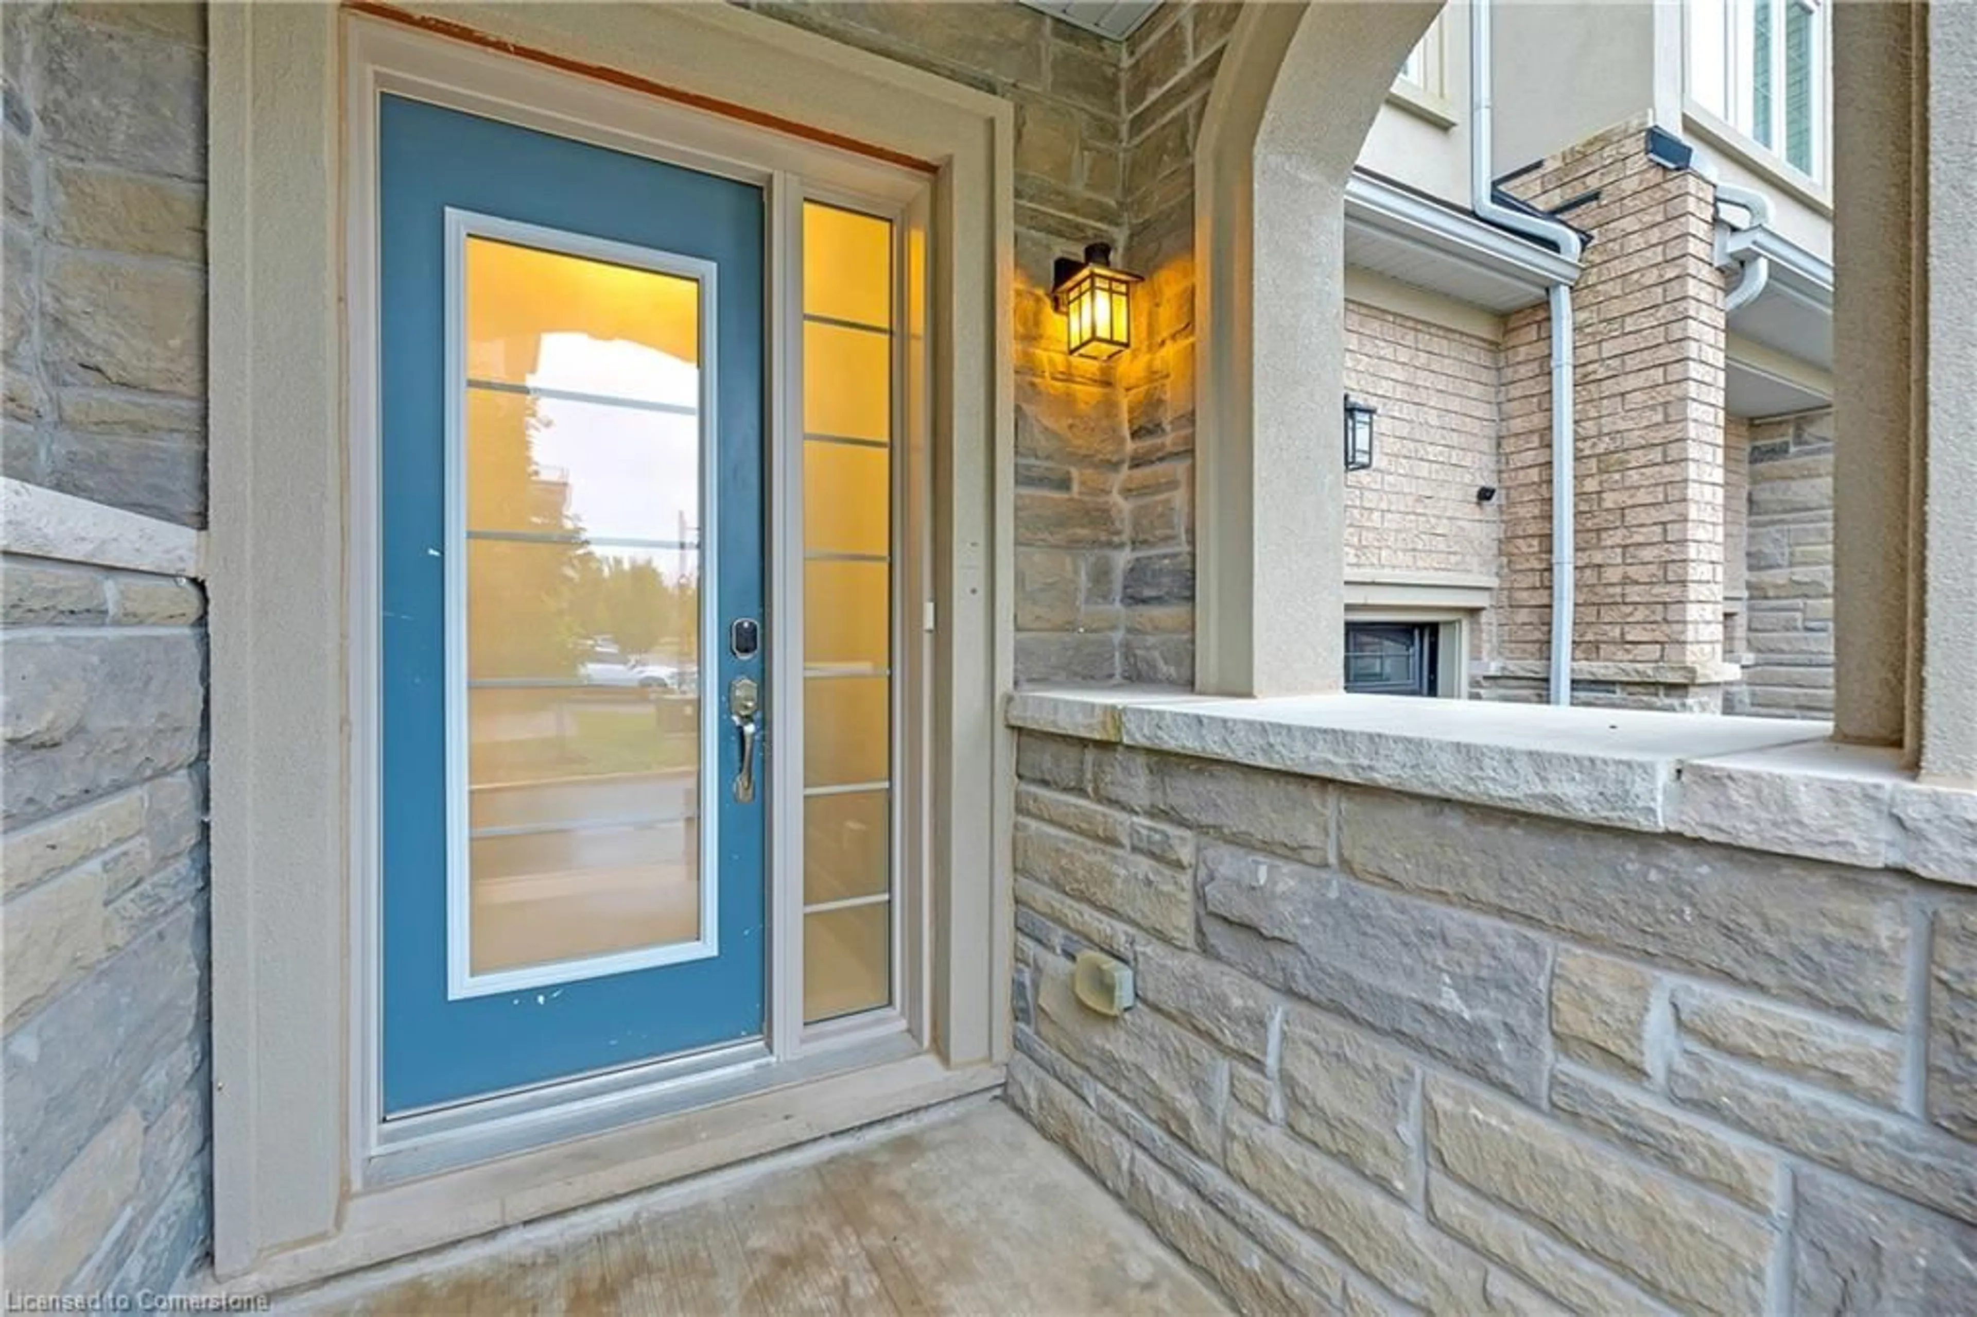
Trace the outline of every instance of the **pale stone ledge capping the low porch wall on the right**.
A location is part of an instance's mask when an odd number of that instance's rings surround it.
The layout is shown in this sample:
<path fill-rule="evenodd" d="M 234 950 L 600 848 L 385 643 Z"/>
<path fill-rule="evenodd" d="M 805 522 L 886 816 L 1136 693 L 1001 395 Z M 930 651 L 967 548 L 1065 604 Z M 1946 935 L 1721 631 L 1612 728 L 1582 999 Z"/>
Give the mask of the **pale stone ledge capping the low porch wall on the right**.
<path fill-rule="evenodd" d="M 1406 696 L 1034 686 L 1008 722 L 1526 815 L 1977 886 L 1977 791 L 1823 722 Z"/>

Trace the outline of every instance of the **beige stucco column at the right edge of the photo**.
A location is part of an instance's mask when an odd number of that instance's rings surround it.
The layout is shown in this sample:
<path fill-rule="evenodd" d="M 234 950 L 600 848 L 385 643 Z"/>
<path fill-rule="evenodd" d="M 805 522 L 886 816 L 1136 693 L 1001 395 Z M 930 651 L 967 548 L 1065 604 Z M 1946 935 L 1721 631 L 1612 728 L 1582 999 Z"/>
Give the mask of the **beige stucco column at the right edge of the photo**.
<path fill-rule="evenodd" d="M 1949 4 L 1833 22 L 1835 736 L 1973 787 L 1977 30 Z"/>

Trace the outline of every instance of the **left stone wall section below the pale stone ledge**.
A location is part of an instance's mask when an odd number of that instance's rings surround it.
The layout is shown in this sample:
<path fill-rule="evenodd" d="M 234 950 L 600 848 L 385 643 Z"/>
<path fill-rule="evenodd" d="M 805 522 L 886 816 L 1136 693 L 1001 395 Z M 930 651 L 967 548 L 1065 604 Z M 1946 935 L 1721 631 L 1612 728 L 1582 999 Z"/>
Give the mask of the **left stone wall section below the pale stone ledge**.
<path fill-rule="evenodd" d="M 210 1230 L 202 595 L 0 558 L 12 1293 L 166 1289 Z"/>

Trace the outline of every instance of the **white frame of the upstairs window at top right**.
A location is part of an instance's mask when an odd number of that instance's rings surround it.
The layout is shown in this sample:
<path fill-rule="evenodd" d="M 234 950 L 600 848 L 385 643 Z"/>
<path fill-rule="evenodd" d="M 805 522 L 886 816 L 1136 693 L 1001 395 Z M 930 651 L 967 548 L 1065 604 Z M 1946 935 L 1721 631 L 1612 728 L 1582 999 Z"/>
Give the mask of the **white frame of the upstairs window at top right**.
<path fill-rule="evenodd" d="M 1763 51 L 1771 71 L 1771 132 L 1777 144 L 1756 136 L 1752 129 L 1736 123 L 1730 111 L 1732 97 L 1740 85 L 1752 79 L 1752 69 L 1738 67 L 1738 24 L 1748 20 L 1756 4 L 1775 6 L 1777 22 L 1771 24 L 1771 49 Z M 1799 168 L 1789 160 L 1785 146 L 1785 10 L 1799 6 L 1813 16 L 1813 123 L 1811 123 L 1811 168 Z M 1708 22 L 1696 12 L 1690 0 L 1682 6 L 1682 93 L 1684 113 L 1696 121 L 1708 136 L 1734 146 L 1752 164 L 1781 176 L 1781 182 L 1795 188 L 1823 192 L 1831 186 L 1833 172 L 1833 6 L 1827 0 L 1722 0 L 1722 51 L 1724 85 L 1700 87 L 1694 61 L 1696 24 Z M 1708 99 L 1704 99 L 1704 95 Z M 1720 101 L 1722 111 L 1710 101 Z"/>

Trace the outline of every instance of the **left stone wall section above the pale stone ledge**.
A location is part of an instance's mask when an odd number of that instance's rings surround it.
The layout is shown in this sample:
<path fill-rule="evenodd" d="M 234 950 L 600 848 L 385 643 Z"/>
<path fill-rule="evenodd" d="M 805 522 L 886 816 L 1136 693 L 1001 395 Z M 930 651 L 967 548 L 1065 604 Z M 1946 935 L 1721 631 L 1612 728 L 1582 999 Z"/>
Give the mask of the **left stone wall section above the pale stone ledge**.
<path fill-rule="evenodd" d="M 202 526 L 204 14 L 4 12 L 6 473 Z"/>

